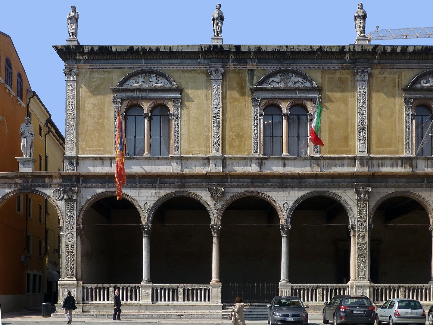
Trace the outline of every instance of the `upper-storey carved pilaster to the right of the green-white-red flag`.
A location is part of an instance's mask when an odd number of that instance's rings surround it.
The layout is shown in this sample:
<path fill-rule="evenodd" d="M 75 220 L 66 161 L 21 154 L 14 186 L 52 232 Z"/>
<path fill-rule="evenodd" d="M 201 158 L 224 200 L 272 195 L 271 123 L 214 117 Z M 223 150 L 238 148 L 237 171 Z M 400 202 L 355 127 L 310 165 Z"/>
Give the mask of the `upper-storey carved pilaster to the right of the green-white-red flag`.
<path fill-rule="evenodd" d="M 369 68 L 355 68 L 356 73 L 356 154 L 368 155 L 368 74 Z"/>

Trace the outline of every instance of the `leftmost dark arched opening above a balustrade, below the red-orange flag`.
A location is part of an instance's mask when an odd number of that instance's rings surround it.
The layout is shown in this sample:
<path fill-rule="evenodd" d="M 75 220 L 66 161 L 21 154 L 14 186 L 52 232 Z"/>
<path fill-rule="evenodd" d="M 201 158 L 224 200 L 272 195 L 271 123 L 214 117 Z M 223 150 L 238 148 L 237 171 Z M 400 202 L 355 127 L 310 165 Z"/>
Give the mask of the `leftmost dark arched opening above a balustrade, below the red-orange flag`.
<path fill-rule="evenodd" d="M 139 211 L 125 197 L 107 196 L 84 211 L 81 277 L 84 283 L 140 283 L 143 235 Z"/>

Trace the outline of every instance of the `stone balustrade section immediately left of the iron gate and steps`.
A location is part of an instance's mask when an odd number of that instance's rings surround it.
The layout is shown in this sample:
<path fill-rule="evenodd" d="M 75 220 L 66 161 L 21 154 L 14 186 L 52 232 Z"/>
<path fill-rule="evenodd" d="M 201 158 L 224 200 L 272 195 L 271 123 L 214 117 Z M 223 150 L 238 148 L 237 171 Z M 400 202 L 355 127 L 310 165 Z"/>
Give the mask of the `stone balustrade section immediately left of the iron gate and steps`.
<path fill-rule="evenodd" d="M 152 302 L 209 302 L 208 284 L 154 284 Z"/>

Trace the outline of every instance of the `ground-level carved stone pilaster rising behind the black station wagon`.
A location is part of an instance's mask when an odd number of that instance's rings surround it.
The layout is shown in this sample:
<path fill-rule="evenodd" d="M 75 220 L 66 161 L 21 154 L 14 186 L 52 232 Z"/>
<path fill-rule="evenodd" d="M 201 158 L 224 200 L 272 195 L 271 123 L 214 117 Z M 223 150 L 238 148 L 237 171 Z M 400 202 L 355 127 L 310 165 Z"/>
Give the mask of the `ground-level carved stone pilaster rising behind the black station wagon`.
<path fill-rule="evenodd" d="M 368 193 L 371 187 L 355 184 L 356 280 L 368 281 Z"/>

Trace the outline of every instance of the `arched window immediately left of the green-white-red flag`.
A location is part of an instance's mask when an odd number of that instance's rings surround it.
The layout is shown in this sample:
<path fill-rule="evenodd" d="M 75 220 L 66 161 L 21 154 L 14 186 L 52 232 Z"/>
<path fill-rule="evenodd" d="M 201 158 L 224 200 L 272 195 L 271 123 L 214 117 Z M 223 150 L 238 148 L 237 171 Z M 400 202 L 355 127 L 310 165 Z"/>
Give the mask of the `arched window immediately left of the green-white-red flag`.
<path fill-rule="evenodd" d="M 289 110 L 289 155 L 304 157 L 308 151 L 308 115 L 301 105 Z"/>

